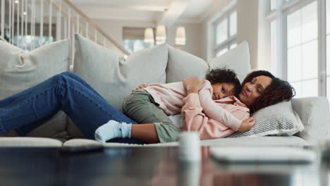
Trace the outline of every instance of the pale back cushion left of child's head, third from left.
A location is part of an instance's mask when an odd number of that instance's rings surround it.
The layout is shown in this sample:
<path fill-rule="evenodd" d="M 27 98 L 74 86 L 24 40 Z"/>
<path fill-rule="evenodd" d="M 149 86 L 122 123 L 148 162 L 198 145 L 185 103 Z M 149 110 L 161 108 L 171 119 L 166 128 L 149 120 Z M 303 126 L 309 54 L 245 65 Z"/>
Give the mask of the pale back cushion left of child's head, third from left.
<path fill-rule="evenodd" d="M 194 76 L 203 79 L 208 70 L 209 66 L 202 58 L 169 46 L 169 62 L 166 67 L 167 83 Z"/>

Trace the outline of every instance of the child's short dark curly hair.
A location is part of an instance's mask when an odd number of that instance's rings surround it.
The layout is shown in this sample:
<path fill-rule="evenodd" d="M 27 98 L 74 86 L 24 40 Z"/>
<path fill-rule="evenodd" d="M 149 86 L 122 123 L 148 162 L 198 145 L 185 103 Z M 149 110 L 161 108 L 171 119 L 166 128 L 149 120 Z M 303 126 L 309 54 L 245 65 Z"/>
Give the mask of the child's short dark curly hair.
<path fill-rule="evenodd" d="M 217 68 L 209 71 L 205 75 L 205 79 L 209 80 L 212 85 L 216 83 L 228 83 L 234 85 L 233 95 L 238 96 L 242 86 L 240 85 L 240 80 L 238 80 L 236 73 L 233 70 L 226 68 Z"/>

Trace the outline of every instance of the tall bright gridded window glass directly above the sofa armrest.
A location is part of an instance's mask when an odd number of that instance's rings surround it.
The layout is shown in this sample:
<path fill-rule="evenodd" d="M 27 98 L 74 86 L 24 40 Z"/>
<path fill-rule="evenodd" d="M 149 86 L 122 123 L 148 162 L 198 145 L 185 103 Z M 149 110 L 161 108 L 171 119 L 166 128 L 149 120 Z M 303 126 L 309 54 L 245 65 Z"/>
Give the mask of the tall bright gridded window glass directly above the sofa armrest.
<path fill-rule="evenodd" d="M 287 78 L 297 97 L 318 96 L 317 1 L 287 16 Z"/>

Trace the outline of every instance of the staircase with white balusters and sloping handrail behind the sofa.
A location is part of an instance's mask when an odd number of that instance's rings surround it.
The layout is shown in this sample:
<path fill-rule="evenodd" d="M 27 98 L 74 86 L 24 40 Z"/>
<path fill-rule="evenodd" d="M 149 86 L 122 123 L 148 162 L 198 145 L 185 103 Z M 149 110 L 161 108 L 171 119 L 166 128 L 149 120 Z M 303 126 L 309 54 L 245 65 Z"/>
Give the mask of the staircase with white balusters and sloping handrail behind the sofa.
<path fill-rule="evenodd" d="M 122 54 L 130 53 L 68 0 L 0 0 L 0 39 L 30 51 L 80 33 Z"/>

